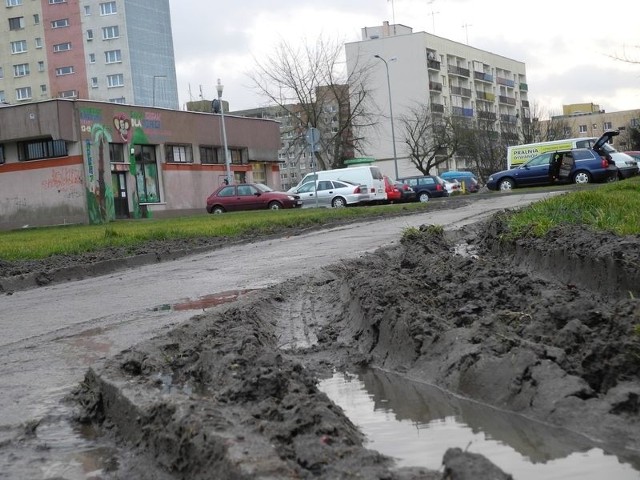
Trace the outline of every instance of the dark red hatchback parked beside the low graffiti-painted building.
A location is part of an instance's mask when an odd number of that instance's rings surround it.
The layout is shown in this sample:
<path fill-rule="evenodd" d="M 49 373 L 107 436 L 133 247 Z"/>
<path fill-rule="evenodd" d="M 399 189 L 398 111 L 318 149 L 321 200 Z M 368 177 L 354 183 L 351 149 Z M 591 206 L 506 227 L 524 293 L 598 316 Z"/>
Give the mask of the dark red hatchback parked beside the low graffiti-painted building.
<path fill-rule="evenodd" d="M 207 198 L 208 213 L 238 210 L 298 208 L 302 201 L 298 195 L 278 192 L 262 183 L 222 185 Z"/>

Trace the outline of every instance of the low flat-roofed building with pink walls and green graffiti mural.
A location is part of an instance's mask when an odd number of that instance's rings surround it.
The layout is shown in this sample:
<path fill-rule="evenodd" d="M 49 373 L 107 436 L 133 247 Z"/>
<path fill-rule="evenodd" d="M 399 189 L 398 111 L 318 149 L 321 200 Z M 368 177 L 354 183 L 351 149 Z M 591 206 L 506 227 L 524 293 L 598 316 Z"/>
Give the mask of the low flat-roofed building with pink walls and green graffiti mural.
<path fill-rule="evenodd" d="M 89 100 L 0 108 L 0 229 L 203 213 L 222 115 Z M 237 182 L 280 188 L 279 123 L 224 116 Z"/>

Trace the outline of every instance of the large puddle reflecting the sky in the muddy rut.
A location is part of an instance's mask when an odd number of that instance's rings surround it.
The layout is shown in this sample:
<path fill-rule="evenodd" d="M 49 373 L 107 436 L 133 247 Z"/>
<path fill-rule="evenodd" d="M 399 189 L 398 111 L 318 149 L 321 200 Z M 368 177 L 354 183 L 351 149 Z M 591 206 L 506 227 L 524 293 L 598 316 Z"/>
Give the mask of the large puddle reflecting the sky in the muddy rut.
<path fill-rule="evenodd" d="M 620 459 L 566 430 L 394 375 L 336 374 L 319 388 L 360 427 L 368 448 L 400 466 L 440 470 L 445 451 L 458 447 L 485 455 L 517 480 L 640 479 L 638 454 Z"/>

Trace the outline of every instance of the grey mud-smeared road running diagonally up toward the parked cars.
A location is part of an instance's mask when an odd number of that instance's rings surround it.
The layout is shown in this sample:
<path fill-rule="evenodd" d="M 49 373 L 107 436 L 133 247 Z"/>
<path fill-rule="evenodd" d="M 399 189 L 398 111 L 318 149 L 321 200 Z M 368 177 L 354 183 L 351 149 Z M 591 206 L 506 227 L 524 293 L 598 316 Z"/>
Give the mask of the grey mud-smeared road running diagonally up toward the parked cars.
<path fill-rule="evenodd" d="M 558 193 L 558 192 L 554 192 Z M 38 441 L 57 439 L 40 459 L 41 478 L 86 478 L 87 439 L 64 420 L 61 399 L 88 366 L 166 331 L 194 314 L 238 294 L 305 275 L 309 269 L 352 259 L 397 243 L 405 228 L 422 224 L 460 228 L 504 208 L 553 193 L 478 197 L 464 207 L 377 219 L 305 235 L 258 241 L 166 263 L 61 283 L 0 297 L 0 446 L 25 422 L 39 421 Z M 37 442 L 31 447 L 37 449 Z M 2 472 L 25 469 L 34 454 L 0 448 Z M 94 459 L 95 460 L 95 459 Z M 8 474 L 6 478 L 17 478 Z M 36 478 L 36 477 L 34 477 Z"/>

